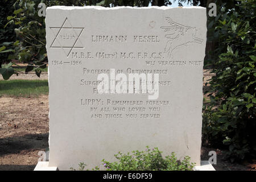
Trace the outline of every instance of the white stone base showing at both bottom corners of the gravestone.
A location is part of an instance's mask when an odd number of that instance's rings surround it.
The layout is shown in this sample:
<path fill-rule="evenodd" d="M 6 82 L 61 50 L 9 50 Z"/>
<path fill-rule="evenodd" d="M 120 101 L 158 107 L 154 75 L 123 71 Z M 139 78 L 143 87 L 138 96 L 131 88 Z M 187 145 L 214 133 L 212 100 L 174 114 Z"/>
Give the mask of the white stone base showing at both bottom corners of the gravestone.
<path fill-rule="evenodd" d="M 49 162 L 38 162 L 34 171 L 57 171 L 57 167 L 49 167 Z M 216 171 L 208 160 L 202 160 L 201 166 L 195 166 L 194 171 Z"/>

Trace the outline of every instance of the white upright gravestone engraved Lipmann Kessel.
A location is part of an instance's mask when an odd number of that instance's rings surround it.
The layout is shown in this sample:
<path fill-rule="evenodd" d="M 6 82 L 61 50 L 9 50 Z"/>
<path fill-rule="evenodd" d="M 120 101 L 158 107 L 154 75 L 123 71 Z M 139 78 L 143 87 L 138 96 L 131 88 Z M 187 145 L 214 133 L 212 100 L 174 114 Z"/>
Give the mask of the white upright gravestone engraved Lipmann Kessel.
<path fill-rule="evenodd" d="M 203 7 L 47 8 L 49 166 L 158 147 L 200 165 Z"/>

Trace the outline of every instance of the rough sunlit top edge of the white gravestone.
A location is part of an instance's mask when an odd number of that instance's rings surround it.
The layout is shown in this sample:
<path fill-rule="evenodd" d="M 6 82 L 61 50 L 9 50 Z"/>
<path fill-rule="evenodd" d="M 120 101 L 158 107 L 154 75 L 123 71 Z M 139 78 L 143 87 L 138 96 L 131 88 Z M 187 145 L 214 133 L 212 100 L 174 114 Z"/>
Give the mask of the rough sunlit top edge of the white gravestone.
<path fill-rule="evenodd" d="M 47 9 L 60 9 L 60 10 L 77 10 L 77 9 L 97 9 L 97 10 L 117 10 L 117 9 L 205 9 L 201 6 L 189 6 L 189 7 L 168 7 L 168 6 L 150 6 L 150 7 L 131 7 L 131 6 L 117 6 L 117 7 L 102 7 L 102 6 L 51 6 Z"/>

